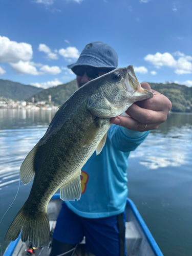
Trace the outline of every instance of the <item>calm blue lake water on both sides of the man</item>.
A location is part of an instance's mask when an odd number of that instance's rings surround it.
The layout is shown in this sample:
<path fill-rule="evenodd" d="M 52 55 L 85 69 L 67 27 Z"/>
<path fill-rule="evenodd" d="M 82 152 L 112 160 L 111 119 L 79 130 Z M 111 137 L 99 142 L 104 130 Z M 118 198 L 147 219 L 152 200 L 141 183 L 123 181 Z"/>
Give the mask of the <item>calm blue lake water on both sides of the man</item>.
<path fill-rule="evenodd" d="M 45 134 L 55 111 L 0 109 L 0 219 L 19 185 L 19 167 Z M 129 157 L 129 197 L 165 256 L 192 255 L 192 115 L 168 115 Z M 5 233 L 29 195 L 20 183 L 17 198 L 0 224 Z"/>

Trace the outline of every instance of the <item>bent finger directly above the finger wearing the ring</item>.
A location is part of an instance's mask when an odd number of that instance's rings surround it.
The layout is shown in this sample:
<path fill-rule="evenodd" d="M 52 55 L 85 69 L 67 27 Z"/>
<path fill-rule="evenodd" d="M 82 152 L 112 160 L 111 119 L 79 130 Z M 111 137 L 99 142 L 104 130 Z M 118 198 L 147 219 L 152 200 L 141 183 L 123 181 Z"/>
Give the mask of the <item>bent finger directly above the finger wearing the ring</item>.
<path fill-rule="evenodd" d="M 162 111 L 154 111 L 140 108 L 140 106 L 133 104 L 127 111 L 125 112 L 135 120 L 141 123 L 162 123 L 166 121 L 166 116 Z"/>

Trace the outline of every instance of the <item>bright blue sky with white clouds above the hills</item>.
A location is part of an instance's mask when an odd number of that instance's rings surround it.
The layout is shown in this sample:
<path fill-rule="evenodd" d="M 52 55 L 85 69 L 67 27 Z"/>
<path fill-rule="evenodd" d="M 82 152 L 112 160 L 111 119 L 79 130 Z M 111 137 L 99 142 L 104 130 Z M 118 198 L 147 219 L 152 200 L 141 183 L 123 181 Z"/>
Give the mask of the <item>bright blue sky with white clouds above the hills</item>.
<path fill-rule="evenodd" d="M 191 0 L 0 0 L 0 79 L 48 88 L 93 41 L 111 45 L 140 82 L 192 86 Z"/>

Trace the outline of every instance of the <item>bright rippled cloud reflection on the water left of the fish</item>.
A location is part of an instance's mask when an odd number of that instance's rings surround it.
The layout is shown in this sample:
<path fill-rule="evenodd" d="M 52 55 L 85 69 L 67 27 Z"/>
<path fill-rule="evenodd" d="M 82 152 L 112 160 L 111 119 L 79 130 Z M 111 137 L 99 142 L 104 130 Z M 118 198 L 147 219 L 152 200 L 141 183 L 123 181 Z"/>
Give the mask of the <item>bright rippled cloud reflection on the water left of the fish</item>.
<path fill-rule="evenodd" d="M 46 130 L 47 126 L 38 129 L 33 127 L 31 129 L 0 130 L 0 190 L 19 180 L 15 178 L 19 178 L 20 165 Z"/>

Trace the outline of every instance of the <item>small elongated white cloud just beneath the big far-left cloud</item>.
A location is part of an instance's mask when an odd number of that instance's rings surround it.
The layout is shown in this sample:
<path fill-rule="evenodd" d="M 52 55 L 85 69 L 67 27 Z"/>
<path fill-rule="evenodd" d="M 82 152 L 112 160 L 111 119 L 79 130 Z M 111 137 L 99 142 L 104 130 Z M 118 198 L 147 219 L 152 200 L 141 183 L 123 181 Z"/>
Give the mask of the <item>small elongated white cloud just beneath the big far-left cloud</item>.
<path fill-rule="evenodd" d="M 17 74 L 40 75 L 34 67 L 33 62 L 20 60 L 18 63 L 10 63 L 10 66 Z"/>

